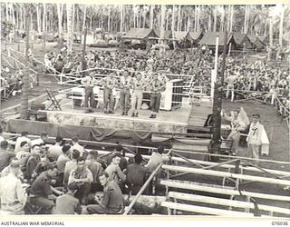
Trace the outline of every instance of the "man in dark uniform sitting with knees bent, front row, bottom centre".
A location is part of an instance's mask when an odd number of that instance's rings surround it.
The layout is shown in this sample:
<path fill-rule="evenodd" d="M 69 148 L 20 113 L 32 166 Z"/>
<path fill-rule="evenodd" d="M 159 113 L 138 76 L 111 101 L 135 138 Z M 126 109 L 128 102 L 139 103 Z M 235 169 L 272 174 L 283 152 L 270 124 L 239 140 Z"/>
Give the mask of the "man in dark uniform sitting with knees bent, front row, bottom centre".
<path fill-rule="evenodd" d="M 103 172 L 99 177 L 100 183 L 103 186 L 102 202 L 96 196 L 97 204 L 87 206 L 87 211 L 101 214 L 116 214 L 121 212 L 123 205 L 123 195 L 118 183 L 109 180 L 109 175 Z"/>

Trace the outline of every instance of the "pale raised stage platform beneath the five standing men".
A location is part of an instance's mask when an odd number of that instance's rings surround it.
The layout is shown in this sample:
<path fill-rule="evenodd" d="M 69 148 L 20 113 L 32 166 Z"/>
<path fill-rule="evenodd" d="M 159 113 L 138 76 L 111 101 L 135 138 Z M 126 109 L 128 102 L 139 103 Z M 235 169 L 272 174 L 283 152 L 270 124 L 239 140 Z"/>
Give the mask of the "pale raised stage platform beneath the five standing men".
<path fill-rule="evenodd" d="M 86 113 L 87 108 L 74 106 L 70 99 L 62 98 L 62 111 L 41 111 L 47 114 L 48 123 L 65 125 L 83 125 L 106 129 L 132 130 L 152 133 L 187 133 L 190 104 L 182 104 L 172 111 L 160 111 L 157 118 L 150 118 L 150 110 L 140 110 L 139 117 L 121 115 L 121 110 L 115 110 L 115 114 L 104 114 L 102 106 L 94 108 L 93 113 Z"/>

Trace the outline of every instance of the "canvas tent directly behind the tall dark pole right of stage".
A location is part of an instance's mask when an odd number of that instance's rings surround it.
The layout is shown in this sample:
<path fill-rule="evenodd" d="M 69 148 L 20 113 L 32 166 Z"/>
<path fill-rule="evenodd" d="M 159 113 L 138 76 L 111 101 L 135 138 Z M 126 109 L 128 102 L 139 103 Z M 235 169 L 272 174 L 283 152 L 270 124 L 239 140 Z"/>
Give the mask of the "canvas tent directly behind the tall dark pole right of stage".
<path fill-rule="evenodd" d="M 218 50 L 221 51 L 224 46 L 225 33 L 223 32 L 208 32 L 203 35 L 201 40 L 198 42 L 202 45 L 208 45 L 210 49 L 216 48 L 216 40 L 218 36 Z M 235 49 L 234 36 L 231 33 L 227 33 L 227 48 L 231 44 L 231 49 Z"/>

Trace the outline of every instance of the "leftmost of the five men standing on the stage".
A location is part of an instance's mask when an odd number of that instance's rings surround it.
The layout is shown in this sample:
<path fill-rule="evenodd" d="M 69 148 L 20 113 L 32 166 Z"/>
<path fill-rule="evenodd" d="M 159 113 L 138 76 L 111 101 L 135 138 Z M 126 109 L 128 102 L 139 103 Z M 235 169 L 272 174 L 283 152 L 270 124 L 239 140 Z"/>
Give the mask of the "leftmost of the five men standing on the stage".
<path fill-rule="evenodd" d="M 92 108 L 96 107 L 96 101 L 94 100 L 94 94 L 93 94 L 93 87 L 98 83 L 98 81 L 94 78 L 94 74 L 91 73 L 90 75 L 87 75 L 82 78 L 81 81 L 82 85 L 84 85 L 84 106 L 89 106 L 90 101 L 90 108 L 88 109 L 88 112 L 93 112 Z"/>

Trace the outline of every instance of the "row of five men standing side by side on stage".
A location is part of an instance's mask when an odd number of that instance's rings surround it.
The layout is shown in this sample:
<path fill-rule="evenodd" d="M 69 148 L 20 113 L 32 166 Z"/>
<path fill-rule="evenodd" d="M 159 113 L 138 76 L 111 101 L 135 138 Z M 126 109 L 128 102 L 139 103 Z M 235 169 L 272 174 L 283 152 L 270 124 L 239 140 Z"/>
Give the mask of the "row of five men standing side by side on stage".
<path fill-rule="evenodd" d="M 121 115 L 128 115 L 131 108 L 131 116 L 138 117 L 142 104 L 143 92 L 150 92 L 150 118 L 156 118 L 160 110 L 161 92 L 165 91 L 167 77 L 163 72 L 158 74 L 150 74 L 150 72 L 137 73 L 134 77 L 125 69 L 121 72 L 118 80 L 115 72 L 111 72 L 108 76 L 99 82 L 94 73 L 82 78 L 82 85 L 85 89 L 85 107 L 89 106 L 88 112 L 93 112 L 92 108 L 96 107 L 94 86 L 102 84 L 103 87 L 103 104 L 105 114 L 114 114 L 114 103 L 116 89 L 120 90 Z"/>

